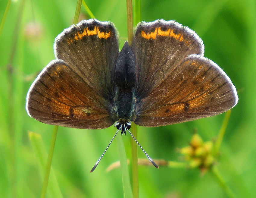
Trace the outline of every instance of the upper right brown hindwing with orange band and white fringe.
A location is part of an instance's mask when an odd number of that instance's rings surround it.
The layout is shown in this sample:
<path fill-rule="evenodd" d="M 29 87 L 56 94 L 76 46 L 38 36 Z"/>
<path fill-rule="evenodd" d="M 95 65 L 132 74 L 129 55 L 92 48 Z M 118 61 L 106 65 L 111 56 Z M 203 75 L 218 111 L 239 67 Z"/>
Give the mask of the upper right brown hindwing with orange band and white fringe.
<path fill-rule="evenodd" d="M 197 34 L 176 21 L 141 22 L 132 44 L 137 66 L 136 96 L 143 98 L 190 54 L 203 55 Z"/>

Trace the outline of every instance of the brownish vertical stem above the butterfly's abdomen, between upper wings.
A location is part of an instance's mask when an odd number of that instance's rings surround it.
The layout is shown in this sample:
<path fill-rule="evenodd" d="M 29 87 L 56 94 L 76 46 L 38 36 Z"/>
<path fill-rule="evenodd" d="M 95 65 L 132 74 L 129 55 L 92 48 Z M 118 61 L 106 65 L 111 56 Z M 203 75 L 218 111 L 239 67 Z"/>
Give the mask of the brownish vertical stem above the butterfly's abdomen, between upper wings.
<path fill-rule="evenodd" d="M 132 45 L 133 42 L 133 1 L 126 0 L 126 12 L 127 12 L 127 34 L 128 43 Z"/>

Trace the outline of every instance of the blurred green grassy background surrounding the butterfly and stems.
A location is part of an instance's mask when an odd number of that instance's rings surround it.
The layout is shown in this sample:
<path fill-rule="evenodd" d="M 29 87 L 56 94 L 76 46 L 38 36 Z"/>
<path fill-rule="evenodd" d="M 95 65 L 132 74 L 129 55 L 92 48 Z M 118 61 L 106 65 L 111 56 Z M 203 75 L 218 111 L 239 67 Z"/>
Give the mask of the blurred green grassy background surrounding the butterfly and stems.
<path fill-rule="evenodd" d="M 21 3 L 11 2 L 0 37 L 0 197 L 40 197 L 42 177 L 28 131 L 42 136 L 48 152 L 53 127 L 27 115 L 26 95 L 39 72 L 55 58 L 54 39 L 72 24 L 76 9 L 76 0 L 26 0 L 20 7 Z M 127 38 L 126 2 L 86 3 L 98 20 L 114 22 L 122 46 Z M 6 5 L 7 0 L 0 1 L 1 20 Z M 86 18 L 82 6 L 81 19 Z M 194 30 L 204 41 L 205 57 L 220 65 L 236 86 L 239 102 L 231 113 L 218 168 L 237 197 L 256 197 L 255 1 L 141 1 L 142 20 L 160 18 Z M 224 115 L 167 127 L 138 127 L 137 139 L 153 159 L 181 161 L 176 148 L 189 144 L 193 129 L 198 129 L 204 141 L 212 140 Z M 113 137 L 113 128 L 59 127 L 52 167 L 63 197 L 123 197 L 120 169 L 106 172 L 119 160 L 116 141 L 97 169 L 89 172 Z M 129 156 L 129 134 L 123 140 Z M 139 149 L 138 156 L 146 158 Z M 198 169 L 156 169 L 152 165 L 139 167 L 139 193 L 140 197 L 226 197 L 209 173 L 202 177 Z"/>

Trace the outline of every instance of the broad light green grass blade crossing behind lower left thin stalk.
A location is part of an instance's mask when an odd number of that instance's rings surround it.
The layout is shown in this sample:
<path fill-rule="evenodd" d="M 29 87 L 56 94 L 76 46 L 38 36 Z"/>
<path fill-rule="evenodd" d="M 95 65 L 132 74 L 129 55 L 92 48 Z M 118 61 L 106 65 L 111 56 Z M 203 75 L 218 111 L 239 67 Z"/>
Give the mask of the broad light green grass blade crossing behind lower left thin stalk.
<path fill-rule="evenodd" d="M 37 134 L 34 132 L 29 132 L 29 139 L 30 139 L 32 148 L 35 152 L 36 159 L 37 159 L 37 162 L 39 165 L 39 170 L 40 170 L 41 176 L 43 178 L 45 175 L 45 166 L 47 163 L 48 155 L 47 155 L 47 151 L 45 149 L 44 143 L 42 141 L 42 137 L 40 134 Z M 50 196 L 52 198 L 63 198 L 53 170 L 50 171 L 48 183 L 49 183 L 48 196 Z"/>

